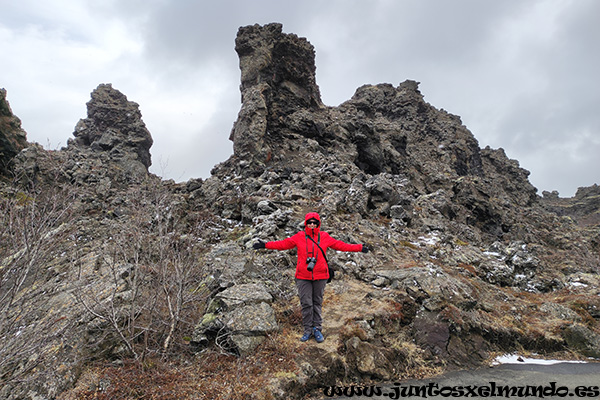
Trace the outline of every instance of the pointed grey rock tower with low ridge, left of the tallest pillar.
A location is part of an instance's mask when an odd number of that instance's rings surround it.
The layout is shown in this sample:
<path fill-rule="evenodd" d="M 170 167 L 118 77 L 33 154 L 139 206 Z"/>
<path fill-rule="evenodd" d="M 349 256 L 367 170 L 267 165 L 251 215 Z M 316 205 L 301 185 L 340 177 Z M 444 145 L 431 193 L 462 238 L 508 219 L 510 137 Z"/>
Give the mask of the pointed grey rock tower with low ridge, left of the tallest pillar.
<path fill-rule="evenodd" d="M 138 104 L 112 85 L 91 93 L 87 118 L 79 120 L 73 136 L 60 151 L 35 144 L 18 154 L 14 163 L 20 179 L 76 184 L 92 189 L 92 196 L 108 197 L 148 177 L 152 136 Z"/>

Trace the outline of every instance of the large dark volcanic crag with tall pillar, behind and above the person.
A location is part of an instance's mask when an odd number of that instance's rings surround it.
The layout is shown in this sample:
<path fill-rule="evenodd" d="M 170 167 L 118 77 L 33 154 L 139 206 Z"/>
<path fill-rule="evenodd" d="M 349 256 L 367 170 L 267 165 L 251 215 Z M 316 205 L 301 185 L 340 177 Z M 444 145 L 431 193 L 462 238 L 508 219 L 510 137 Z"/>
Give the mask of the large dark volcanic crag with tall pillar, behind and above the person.
<path fill-rule="evenodd" d="M 282 34 L 279 24 L 255 25 L 239 30 L 236 50 L 242 107 L 230 137 L 234 155 L 214 169 L 215 179 L 268 173 L 278 184 L 291 185 L 282 193 L 292 201 L 337 186 L 319 208 L 326 203 L 323 210 L 365 217 L 390 216 L 394 209 L 405 223 L 430 228 L 440 224 L 415 212 L 414 200 L 443 190 L 445 204 L 435 213 L 473 226 L 491 241 L 513 233 L 521 218 L 513 205 L 537 201 L 528 171 L 502 149 L 480 149 L 458 116 L 424 101 L 417 82 L 365 85 L 339 107 L 324 107 L 314 51 L 305 39 Z M 300 175 L 302 184 L 296 185 Z M 262 179 L 250 182 L 241 187 L 247 195 L 262 186 Z M 221 187 L 219 205 L 236 201 L 230 196 L 239 196 L 237 185 L 230 180 Z M 244 218 L 240 212 L 230 215 Z M 454 233 L 464 231 L 457 229 Z"/>

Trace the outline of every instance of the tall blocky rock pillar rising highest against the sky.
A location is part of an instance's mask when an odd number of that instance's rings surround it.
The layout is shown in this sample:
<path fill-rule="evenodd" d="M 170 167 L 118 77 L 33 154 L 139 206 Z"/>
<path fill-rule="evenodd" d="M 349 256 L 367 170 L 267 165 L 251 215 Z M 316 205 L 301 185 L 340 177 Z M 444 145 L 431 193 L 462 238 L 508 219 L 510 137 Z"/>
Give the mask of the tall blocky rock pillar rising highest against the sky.
<path fill-rule="evenodd" d="M 242 108 L 230 139 L 236 156 L 258 165 L 273 157 L 276 134 L 299 109 L 321 108 L 315 52 L 306 39 L 282 33 L 281 24 L 240 28 Z"/>

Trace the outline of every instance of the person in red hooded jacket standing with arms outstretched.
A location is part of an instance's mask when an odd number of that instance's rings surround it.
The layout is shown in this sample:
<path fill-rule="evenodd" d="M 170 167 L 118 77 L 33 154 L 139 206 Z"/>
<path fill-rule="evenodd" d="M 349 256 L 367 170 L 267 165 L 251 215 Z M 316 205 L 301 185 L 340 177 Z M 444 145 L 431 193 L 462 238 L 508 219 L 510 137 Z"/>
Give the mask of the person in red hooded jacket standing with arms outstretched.
<path fill-rule="evenodd" d="M 259 240 L 253 245 L 256 250 L 297 248 L 298 261 L 295 278 L 302 306 L 302 324 L 304 326 L 304 334 L 300 338 L 302 342 L 306 342 L 313 336 L 319 343 L 325 340 L 322 333 L 321 310 L 325 285 L 330 277 L 325 255 L 327 249 L 331 247 L 338 251 L 363 253 L 369 251 L 369 247 L 364 244 L 349 244 L 336 240 L 327 232 L 322 232 L 320 227 L 321 217 L 316 212 L 310 212 L 304 217 L 304 231 L 283 240 L 266 243 Z"/>

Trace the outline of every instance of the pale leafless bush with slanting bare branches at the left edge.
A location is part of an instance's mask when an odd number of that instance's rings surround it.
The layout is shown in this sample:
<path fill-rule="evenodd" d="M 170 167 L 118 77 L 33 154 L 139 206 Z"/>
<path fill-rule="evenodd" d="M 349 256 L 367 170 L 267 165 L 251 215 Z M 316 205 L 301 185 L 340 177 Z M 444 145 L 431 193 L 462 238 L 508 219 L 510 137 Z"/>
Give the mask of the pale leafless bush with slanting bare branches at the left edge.
<path fill-rule="evenodd" d="M 46 266 L 69 234 L 66 222 L 74 195 L 64 188 L 34 185 L 0 190 L 0 383 L 35 367 L 35 362 L 23 360 L 39 359 L 32 355 L 39 355 L 43 335 L 18 339 L 27 331 L 27 304 L 36 295 L 30 286 L 47 273 Z"/>

